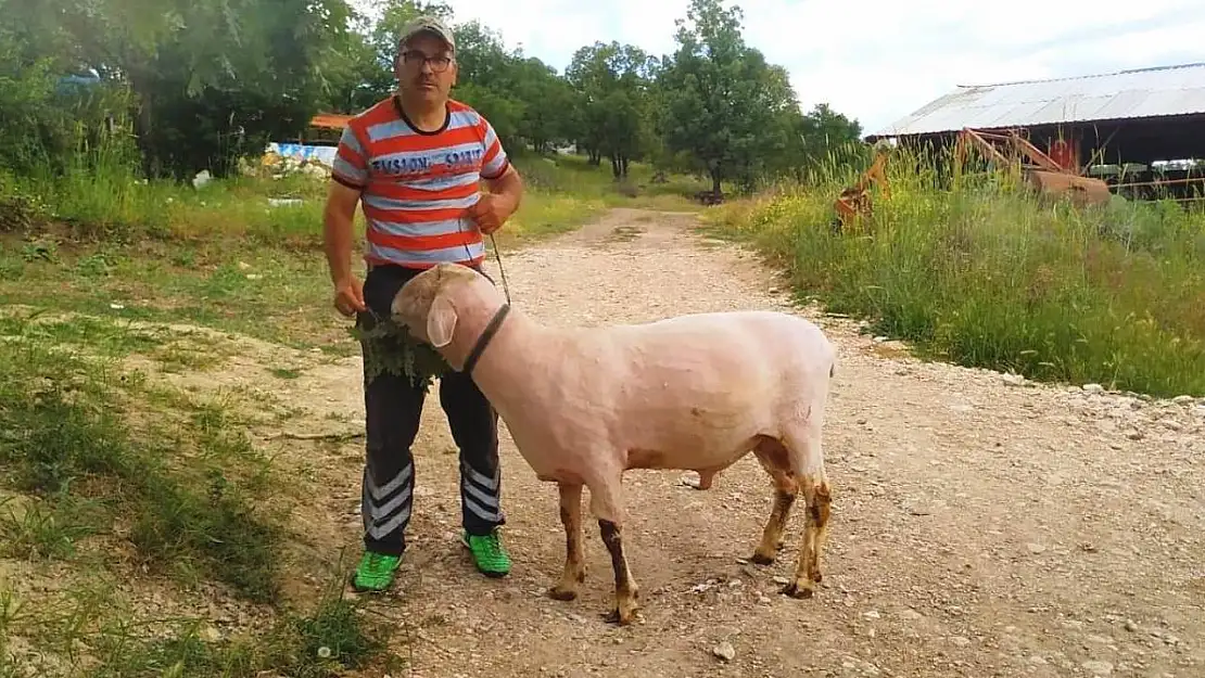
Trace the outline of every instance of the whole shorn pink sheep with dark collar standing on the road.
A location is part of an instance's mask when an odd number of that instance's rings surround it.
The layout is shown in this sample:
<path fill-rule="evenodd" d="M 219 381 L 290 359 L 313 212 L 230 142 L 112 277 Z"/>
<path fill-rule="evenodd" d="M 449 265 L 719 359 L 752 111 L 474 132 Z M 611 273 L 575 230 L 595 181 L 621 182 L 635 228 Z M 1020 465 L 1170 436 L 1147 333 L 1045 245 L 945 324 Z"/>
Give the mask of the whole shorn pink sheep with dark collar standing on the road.
<path fill-rule="evenodd" d="M 452 369 L 472 376 L 536 477 L 557 483 L 565 567 L 553 599 L 576 599 L 586 577 L 583 485 L 615 570 L 615 608 L 605 617 L 629 624 L 639 589 L 623 550 L 624 471 L 693 470 L 706 489 L 750 452 L 775 488 L 752 560 L 774 562 L 803 491 L 799 560 L 782 592 L 812 596 L 831 506 L 821 438 L 836 373 L 835 347 L 815 324 L 741 311 L 552 328 L 511 308 L 488 278 L 455 264 L 406 283 L 392 313 Z"/>

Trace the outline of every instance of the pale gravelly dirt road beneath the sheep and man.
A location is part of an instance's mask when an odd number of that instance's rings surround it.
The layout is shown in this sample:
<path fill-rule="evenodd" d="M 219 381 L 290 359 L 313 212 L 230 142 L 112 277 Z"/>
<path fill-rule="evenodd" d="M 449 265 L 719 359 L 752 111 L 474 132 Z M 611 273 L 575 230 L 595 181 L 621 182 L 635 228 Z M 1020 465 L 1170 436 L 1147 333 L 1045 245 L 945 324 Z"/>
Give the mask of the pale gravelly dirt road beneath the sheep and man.
<path fill-rule="evenodd" d="M 616 211 L 511 254 L 515 303 L 545 323 L 586 325 L 789 307 L 754 257 L 694 235 L 692 219 Z M 1205 402 L 1017 384 L 922 364 L 848 322 L 821 322 L 842 366 L 815 599 L 780 596 L 775 582 L 794 565 L 800 513 L 780 562 L 743 560 L 771 507 L 752 456 L 710 491 L 683 487 L 680 472 L 629 473 L 640 624 L 600 618 L 612 579 L 590 521 L 582 595 L 546 597 L 563 562 L 557 491 L 536 482 L 505 430 L 516 565 L 502 580 L 476 574 L 455 538 L 454 447 L 433 391 L 410 550 L 398 591 L 378 606 L 418 627 L 402 650 L 408 674 L 1205 676 Z M 311 421 L 363 415 L 355 359 L 290 383 L 277 395 Z M 328 493 L 316 497 L 312 533 L 354 554 L 362 443 L 294 446 Z"/>

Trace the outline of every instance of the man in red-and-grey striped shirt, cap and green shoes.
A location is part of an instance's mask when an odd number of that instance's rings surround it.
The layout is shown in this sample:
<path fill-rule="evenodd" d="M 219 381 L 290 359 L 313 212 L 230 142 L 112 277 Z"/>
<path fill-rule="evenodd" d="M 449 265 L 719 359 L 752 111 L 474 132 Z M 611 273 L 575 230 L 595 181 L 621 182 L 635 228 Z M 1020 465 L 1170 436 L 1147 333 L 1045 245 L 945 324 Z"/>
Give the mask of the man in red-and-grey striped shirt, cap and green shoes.
<path fill-rule="evenodd" d="M 422 17 L 406 26 L 398 45 L 398 93 L 348 122 L 327 199 L 324 236 L 335 307 L 355 314 L 362 329 L 388 319 L 401 285 L 434 264 L 481 270 L 482 234 L 496 231 L 523 194 L 489 122 L 449 99 L 457 77 L 452 31 Z M 478 194 L 481 179 L 489 193 Z M 368 222 L 363 284 L 351 270 L 352 222 L 360 201 Z M 388 346 L 370 347 L 369 341 L 362 340 L 365 359 L 370 348 Z M 406 375 L 370 378 L 365 371 L 364 554 L 352 577 L 355 590 L 387 589 L 405 550 L 415 488 L 411 444 L 424 395 Z M 462 541 L 482 573 L 505 576 L 511 562 L 498 533 L 505 523 L 498 415 L 465 373 L 440 379 L 440 402 L 460 449 Z"/>

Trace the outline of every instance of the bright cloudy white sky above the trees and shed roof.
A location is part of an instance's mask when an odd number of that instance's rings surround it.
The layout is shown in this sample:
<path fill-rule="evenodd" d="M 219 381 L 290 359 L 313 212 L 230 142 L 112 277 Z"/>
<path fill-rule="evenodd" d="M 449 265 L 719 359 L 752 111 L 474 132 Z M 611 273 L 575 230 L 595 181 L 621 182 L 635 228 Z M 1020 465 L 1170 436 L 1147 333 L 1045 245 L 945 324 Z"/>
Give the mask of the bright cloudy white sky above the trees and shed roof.
<path fill-rule="evenodd" d="M 372 0 L 355 0 L 371 7 Z M 564 71 L 595 40 L 672 54 L 688 0 L 451 0 L 507 46 Z M 731 6 L 734 0 L 725 5 Z M 1201 0 L 735 0 L 747 45 L 827 102 L 882 129 L 960 84 L 1205 61 Z M 1057 11 L 1053 7 L 1059 7 Z"/>

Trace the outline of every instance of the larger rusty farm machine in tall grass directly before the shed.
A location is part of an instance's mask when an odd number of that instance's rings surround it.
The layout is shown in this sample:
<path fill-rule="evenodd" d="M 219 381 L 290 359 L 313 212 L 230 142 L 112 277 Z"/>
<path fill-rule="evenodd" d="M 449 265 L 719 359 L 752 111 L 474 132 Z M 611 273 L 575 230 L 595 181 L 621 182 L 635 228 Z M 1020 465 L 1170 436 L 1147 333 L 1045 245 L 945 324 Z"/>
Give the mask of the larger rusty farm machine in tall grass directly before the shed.
<path fill-rule="evenodd" d="M 956 146 L 957 166 L 960 169 L 974 148 L 982 152 L 989 163 L 1005 167 L 1019 167 L 1022 178 L 1039 195 L 1058 197 L 1070 195 L 1077 207 L 1109 202 L 1112 194 L 1103 179 L 1086 177 L 1074 169 L 1066 169 L 1042 153 L 1016 130 L 1003 132 L 963 128 Z"/>

